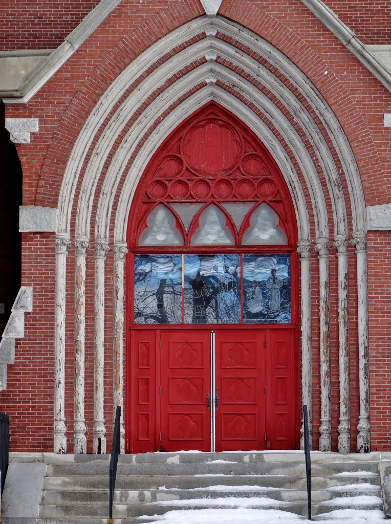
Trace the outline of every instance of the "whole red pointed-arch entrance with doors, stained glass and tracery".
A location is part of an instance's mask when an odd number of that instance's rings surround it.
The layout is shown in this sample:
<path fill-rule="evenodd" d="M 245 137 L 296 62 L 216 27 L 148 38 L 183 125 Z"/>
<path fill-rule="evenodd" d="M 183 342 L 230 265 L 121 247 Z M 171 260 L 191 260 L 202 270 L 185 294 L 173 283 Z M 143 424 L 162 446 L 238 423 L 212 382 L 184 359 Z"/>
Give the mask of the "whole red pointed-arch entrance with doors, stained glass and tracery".
<path fill-rule="evenodd" d="M 140 179 L 128 246 L 127 449 L 295 449 L 296 219 L 267 149 L 199 110 Z"/>

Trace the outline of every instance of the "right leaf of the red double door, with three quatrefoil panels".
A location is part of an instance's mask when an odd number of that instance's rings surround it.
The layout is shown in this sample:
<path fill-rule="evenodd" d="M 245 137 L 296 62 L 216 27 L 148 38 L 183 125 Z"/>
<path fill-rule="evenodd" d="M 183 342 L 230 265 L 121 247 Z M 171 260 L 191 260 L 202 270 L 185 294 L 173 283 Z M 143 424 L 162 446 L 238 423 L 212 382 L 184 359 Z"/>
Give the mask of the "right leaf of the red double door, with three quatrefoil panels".
<path fill-rule="evenodd" d="M 216 451 L 265 449 L 264 342 L 262 329 L 215 333 Z"/>

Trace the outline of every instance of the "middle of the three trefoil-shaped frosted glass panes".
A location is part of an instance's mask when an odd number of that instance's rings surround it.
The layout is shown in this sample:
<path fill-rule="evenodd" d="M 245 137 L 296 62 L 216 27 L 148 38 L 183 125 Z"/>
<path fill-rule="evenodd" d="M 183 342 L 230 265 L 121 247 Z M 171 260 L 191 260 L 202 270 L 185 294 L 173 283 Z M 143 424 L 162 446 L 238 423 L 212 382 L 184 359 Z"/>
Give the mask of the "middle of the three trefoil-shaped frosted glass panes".
<path fill-rule="evenodd" d="M 191 237 L 191 245 L 234 245 L 235 239 L 225 221 L 224 213 L 216 205 L 209 205 L 200 215 L 200 225 Z"/>

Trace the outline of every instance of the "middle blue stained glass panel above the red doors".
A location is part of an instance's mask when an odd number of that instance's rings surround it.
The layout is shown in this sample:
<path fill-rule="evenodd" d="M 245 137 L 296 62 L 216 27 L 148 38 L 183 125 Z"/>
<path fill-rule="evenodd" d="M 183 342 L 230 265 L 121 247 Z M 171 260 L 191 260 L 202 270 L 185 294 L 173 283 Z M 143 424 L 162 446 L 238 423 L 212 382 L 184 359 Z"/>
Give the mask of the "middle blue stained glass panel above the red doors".
<path fill-rule="evenodd" d="M 184 255 L 184 322 L 241 322 L 240 255 Z"/>

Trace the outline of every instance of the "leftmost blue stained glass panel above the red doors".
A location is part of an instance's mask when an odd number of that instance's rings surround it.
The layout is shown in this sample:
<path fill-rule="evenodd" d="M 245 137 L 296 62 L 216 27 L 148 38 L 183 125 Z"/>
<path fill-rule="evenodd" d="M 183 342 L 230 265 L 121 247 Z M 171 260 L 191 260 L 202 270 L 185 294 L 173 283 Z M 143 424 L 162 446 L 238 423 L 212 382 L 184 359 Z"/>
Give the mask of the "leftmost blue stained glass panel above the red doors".
<path fill-rule="evenodd" d="M 182 322 L 181 255 L 136 255 L 134 282 L 136 324 Z"/>

